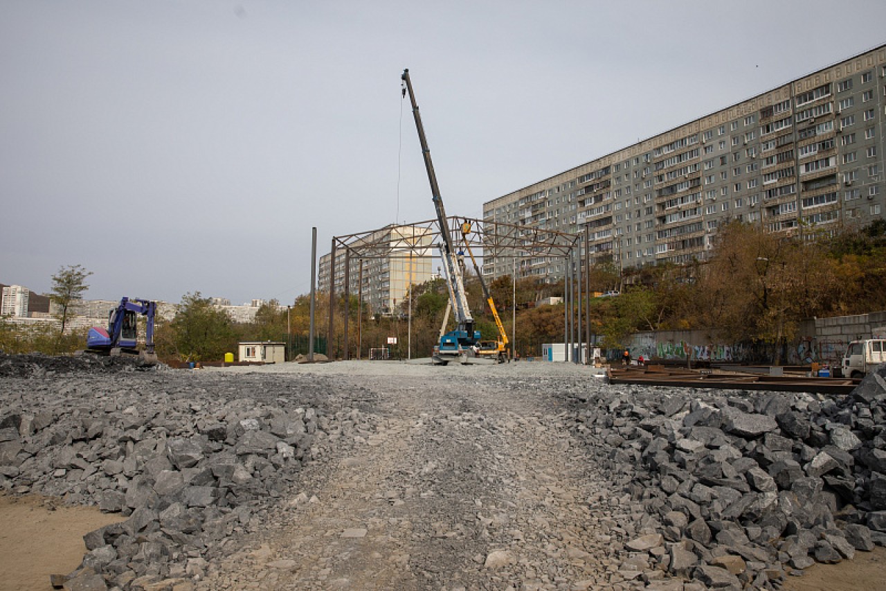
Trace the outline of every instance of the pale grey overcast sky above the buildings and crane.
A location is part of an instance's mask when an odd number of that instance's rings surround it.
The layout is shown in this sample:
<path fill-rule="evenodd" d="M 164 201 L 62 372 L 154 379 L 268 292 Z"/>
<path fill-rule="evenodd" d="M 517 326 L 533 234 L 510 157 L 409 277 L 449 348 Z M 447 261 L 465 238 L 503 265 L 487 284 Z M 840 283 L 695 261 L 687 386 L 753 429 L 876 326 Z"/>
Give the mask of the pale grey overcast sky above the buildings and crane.
<path fill-rule="evenodd" d="M 0 0 L 0 282 L 291 303 L 449 215 L 886 43 L 886 2 Z"/>

